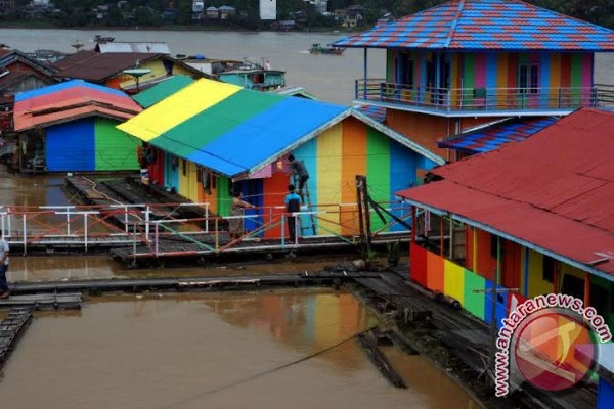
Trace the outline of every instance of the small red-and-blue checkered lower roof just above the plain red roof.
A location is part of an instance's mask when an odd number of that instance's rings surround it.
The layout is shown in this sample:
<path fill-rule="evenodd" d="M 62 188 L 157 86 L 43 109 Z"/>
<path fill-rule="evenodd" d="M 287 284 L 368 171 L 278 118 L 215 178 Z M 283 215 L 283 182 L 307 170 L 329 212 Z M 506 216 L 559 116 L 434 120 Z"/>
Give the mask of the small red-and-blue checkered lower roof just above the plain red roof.
<path fill-rule="evenodd" d="M 508 143 L 520 142 L 558 120 L 548 118 L 512 118 L 441 140 L 440 148 L 454 149 L 465 153 L 482 153 L 500 148 Z"/>

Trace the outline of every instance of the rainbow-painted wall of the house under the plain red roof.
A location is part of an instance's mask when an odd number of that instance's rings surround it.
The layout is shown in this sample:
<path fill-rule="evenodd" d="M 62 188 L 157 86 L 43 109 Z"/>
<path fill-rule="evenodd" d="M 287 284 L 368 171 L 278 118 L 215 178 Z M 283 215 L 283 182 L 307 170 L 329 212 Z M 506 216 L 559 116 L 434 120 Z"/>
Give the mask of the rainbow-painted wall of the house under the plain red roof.
<path fill-rule="evenodd" d="M 467 258 L 464 266 L 449 261 L 445 256 L 426 250 L 417 243 L 410 246 L 410 277 L 432 291 L 454 297 L 468 312 L 491 320 L 492 298 L 475 289 L 489 289 L 493 285 L 493 273 L 497 269 L 497 237 L 480 229 L 467 226 Z M 516 243 L 500 239 L 501 266 L 497 288 L 518 288 L 519 291 L 497 294 L 497 325 L 510 313 L 513 299 L 519 304 L 540 294 L 562 292 L 585 299 L 584 280 L 589 278 L 589 305 L 604 316 L 608 325 L 614 325 L 614 294 L 612 283 L 594 275 L 587 275 L 576 267 L 553 261 L 552 277 L 546 277 L 545 257 Z"/>

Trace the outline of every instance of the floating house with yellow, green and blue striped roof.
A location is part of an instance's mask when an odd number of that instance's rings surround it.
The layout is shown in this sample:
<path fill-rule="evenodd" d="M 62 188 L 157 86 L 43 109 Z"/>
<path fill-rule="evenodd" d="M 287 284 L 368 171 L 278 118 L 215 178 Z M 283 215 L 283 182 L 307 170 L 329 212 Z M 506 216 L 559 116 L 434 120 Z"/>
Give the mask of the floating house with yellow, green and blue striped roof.
<path fill-rule="evenodd" d="M 266 207 L 266 212 L 251 211 L 255 221 L 246 223 L 248 229 L 284 212 L 291 180 L 283 158 L 289 153 L 309 171 L 313 208 L 328 212 L 326 220 L 314 223 L 311 231 L 317 234 L 351 234 L 358 228 L 351 214 L 357 174 L 367 175 L 375 201 L 388 203 L 395 190 L 415 185 L 426 170 L 443 163 L 349 107 L 205 79 L 118 128 L 157 148 L 152 178 L 160 185 L 209 202 L 220 215 L 228 215 L 231 192 L 238 189 L 247 201 Z M 348 213 L 341 212 L 344 205 Z M 375 217 L 373 224 L 375 229 L 383 223 Z M 279 229 L 265 232 L 280 234 Z"/>

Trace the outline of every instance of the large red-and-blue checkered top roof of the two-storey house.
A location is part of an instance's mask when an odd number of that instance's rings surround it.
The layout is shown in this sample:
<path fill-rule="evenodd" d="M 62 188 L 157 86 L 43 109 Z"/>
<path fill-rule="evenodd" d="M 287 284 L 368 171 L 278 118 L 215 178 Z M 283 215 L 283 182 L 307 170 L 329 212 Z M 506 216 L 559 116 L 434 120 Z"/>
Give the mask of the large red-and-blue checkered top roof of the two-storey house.
<path fill-rule="evenodd" d="M 519 0 L 454 0 L 335 47 L 614 51 L 614 31 Z"/>

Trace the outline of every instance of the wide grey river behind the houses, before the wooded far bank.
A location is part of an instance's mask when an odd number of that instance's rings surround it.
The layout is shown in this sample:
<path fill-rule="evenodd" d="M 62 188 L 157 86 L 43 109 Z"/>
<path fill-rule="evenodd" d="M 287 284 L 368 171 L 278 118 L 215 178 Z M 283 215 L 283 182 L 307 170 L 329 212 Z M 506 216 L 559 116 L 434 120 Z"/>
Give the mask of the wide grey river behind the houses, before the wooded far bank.
<path fill-rule="evenodd" d="M 203 54 L 209 58 L 241 59 L 266 57 L 271 66 L 287 71 L 286 82 L 305 86 L 324 101 L 350 104 L 354 80 L 363 75 L 362 49 L 348 48 L 343 56 L 316 56 L 308 50 L 314 43 L 329 44 L 348 36 L 339 32 L 236 32 L 236 31 L 165 31 L 165 30 L 73 30 L 73 29 L 0 29 L 4 44 L 32 52 L 46 48 L 73 52 L 76 40 L 93 48 L 95 34 L 123 41 L 162 41 L 173 55 Z M 368 51 L 368 76 L 381 78 L 385 72 L 384 50 Z M 614 84 L 614 53 L 597 55 L 595 82 Z"/>

